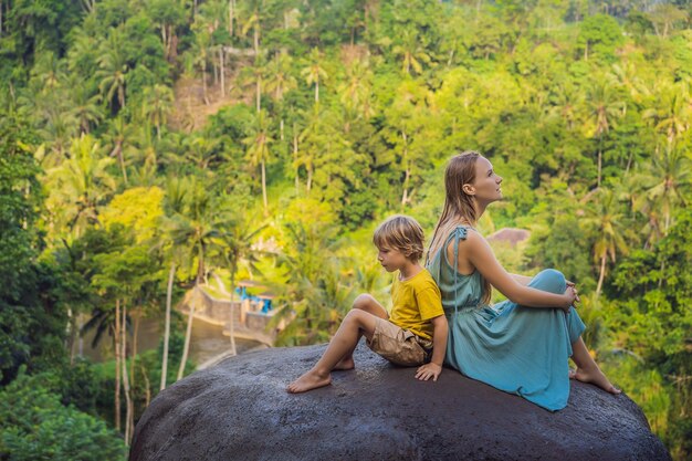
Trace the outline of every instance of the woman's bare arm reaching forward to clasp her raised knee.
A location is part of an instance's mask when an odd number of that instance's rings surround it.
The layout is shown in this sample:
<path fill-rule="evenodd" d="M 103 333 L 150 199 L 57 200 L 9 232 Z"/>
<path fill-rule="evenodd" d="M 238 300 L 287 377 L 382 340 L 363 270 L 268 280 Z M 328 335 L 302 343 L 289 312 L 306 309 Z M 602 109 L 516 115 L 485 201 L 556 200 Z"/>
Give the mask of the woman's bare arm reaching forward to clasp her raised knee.
<path fill-rule="evenodd" d="M 462 255 L 463 254 L 463 255 Z M 532 289 L 520 283 L 500 264 L 490 244 L 475 232 L 459 242 L 460 268 L 475 268 L 485 280 L 510 301 L 527 307 L 559 307 L 567 312 L 576 300 L 574 289 L 568 286 L 564 294 L 554 294 Z"/>

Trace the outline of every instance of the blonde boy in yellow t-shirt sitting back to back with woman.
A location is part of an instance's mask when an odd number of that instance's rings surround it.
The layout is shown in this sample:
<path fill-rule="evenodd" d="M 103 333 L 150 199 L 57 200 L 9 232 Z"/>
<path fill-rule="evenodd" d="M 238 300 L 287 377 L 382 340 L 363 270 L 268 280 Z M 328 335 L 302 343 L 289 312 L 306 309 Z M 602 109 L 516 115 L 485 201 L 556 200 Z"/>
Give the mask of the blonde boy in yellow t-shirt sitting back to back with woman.
<path fill-rule="evenodd" d="M 440 290 L 419 263 L 423 231 L 413 218 L 397 214 L 377 228 L 373 242 L 387 272 L 399 271 L 391 285 L 391 315 L 373 296 L 359 295 L 322 358 L 289 385 L 289 392 L 327 386 L 332 370 L 354 368 L 353 353 L 361 335 L 387 360 L 418 366 L 417 379 L 438 380 L 447 349 L 447 318 Z"/>

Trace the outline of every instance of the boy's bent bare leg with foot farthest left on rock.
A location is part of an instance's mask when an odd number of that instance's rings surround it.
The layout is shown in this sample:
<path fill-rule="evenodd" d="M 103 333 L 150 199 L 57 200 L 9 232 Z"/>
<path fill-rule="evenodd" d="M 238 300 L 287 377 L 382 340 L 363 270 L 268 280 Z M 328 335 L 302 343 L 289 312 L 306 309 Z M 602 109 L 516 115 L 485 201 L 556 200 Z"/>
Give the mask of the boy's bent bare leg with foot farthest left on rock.
<path fill-rule="evenodd" d="M 361 334 L 368 339 L 373 337 L 376 324 L 375 315 L 360 310 L 352 310 L 342 322 L 322 358 L 311 370 L 289 385 L 289 392 L 305 392 L 331 384 L 332 369 L 349 350 L 353 350 Z"/>

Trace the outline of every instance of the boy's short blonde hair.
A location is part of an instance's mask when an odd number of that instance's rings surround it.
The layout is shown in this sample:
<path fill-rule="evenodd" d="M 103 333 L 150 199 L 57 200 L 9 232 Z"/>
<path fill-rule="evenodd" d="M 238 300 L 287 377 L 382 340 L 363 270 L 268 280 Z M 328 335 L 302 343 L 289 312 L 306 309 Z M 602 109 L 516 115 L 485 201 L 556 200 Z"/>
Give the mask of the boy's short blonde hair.
<path fill-rule="evenodd" d="M 418 262 L 423 256 L 423 230 L 413 218 L 395 214 L 375 229 L 373 243 L 379 249 L 397 250 Z"/>

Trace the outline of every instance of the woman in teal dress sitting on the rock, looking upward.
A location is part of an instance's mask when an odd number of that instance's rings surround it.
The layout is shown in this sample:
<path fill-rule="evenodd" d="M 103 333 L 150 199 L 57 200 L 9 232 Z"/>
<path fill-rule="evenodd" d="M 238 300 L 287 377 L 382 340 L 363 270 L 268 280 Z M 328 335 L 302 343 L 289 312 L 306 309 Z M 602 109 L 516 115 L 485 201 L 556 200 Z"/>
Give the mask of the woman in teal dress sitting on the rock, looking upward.
<path fill-rule="evenodd" d="M 581 339 L 585 326 L 572 308 L 579 301 L 575 285 L 555 270 L 534 279 L 507 273 L 474 229 L 485 208 L 502 199 L 501 182 L 474 151 L 447 167 L 444 209 L 428 250 L 449 322 L 444 362 L 552 411 L 567 406 L 569 378 L 619 394 Z M 491 306 L 491 286 L 508 301 Z"/>

